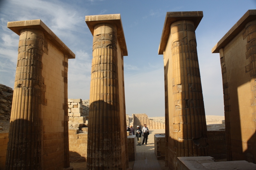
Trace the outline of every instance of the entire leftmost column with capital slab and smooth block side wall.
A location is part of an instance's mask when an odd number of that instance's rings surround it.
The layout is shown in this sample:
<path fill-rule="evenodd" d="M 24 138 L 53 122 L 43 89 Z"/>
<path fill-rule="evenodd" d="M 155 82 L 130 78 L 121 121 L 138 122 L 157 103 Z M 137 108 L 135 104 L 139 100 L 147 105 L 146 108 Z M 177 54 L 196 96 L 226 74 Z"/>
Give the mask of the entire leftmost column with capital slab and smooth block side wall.
<path fill-rule="evenodd" d="M 20 41 L 5 168 L 68 168 L 67 63 L 75 55 L 41 20 L 8 27 Z"/>

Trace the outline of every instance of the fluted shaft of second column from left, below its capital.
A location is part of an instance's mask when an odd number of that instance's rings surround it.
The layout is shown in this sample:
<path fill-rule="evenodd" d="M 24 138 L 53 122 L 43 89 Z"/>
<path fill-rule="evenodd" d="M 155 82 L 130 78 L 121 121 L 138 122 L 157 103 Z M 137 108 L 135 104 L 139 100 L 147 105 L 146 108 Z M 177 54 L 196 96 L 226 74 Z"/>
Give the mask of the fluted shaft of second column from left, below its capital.
<path fill-rule="evenodd" d="M 88 169 L 122 168 L 116 35 L 116 26 L 94 27 Z"/>

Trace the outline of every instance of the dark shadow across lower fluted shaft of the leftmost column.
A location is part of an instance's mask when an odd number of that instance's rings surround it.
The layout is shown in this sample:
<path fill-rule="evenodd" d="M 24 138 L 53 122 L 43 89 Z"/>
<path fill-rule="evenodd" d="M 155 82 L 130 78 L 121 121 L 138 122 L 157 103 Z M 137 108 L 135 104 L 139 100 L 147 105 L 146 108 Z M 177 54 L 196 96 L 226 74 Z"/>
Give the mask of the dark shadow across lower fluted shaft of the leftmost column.
<path fill-rule="evenodd" d="M 5 169 L 42 167 L 42 122 L 17 119 L 10 122 Z"/>

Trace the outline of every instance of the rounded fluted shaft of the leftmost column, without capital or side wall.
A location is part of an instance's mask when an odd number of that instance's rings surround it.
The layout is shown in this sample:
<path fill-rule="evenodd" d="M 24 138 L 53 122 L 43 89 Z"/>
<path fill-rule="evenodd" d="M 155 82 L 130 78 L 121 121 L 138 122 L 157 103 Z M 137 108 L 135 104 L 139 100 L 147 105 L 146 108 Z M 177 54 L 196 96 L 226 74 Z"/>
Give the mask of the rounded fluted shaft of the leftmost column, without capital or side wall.
<path fill-rule="evenodd" d="M 40 169 L 42 159 L 42 31 L 20 31 L 5 169 Z"/>

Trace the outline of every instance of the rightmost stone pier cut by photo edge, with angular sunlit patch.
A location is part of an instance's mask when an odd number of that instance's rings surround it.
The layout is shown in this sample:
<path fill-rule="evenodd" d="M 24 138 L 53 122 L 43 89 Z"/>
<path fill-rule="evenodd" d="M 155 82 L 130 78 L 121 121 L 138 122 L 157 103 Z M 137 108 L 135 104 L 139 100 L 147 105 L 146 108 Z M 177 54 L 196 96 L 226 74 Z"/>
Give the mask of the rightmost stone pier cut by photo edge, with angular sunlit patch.
<path fill-rule="evenodd" d="M 242 18 L 212 48 L 220 53 L 227 160 L 256 163 L 256 10 Z"/>

